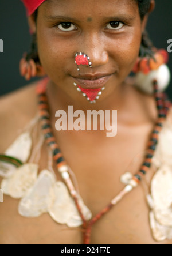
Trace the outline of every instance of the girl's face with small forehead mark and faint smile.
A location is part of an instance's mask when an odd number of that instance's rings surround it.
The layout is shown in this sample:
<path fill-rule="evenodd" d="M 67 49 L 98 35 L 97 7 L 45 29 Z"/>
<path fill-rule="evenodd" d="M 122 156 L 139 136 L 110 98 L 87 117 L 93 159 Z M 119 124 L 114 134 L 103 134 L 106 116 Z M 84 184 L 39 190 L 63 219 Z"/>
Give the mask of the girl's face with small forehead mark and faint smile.
<path fill-rule="evenodd" d="M 142 31 L 135 0 L 46 0 L 38 10 L 38 54 L 50 79 L 73 100 L 79 97 L 74 82 L 105 86 L 110 94 L 131 72 Z M 87 54 L 92 68 L 77 71 L 76 52 Z"/>

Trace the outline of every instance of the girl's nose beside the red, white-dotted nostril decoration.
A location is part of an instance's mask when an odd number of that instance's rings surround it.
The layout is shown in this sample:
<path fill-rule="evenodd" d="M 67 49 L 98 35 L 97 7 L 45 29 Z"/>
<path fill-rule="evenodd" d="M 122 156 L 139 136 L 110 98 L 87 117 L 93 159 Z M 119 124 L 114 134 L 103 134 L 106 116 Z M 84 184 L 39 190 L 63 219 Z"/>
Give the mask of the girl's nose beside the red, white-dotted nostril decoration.
<path fill-rule="evenodd" d="M 86 37 L 86 36 L 85 36 Z M 100 67 L 108 63 L 108 51 L 105 47 L 105 42 L 99 35 L 89 35 L 84 37 L 84 42 L 81 43 L 81 51 L 87 54 L 92 63 L 92 68 Z"/>

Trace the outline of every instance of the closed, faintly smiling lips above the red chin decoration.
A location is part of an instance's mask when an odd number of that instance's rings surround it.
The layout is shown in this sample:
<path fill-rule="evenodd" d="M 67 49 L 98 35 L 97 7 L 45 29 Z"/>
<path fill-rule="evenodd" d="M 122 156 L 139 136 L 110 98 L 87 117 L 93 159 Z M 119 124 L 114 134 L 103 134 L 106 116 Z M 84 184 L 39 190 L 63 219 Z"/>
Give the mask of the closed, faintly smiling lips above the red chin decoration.
<path fill-rule="evenodd" d="M 77 85 L 83 89 L 98 89 L 103 88 L 104 85 L 110 80 L 113 74 L 85 74 L 84 76 L 73 77 Z"/>

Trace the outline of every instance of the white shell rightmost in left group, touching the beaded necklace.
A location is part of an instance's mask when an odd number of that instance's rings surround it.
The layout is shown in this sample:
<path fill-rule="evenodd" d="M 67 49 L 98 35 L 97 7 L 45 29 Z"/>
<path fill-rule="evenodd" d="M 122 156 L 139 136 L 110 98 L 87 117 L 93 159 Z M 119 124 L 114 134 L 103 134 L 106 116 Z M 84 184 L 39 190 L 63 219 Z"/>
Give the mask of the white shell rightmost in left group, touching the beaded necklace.
<path fill-rule="evenodd" d="M 68 227 L 79 227 L 82 225 L 83 221 L 65 184 L 57 182 L 53 193 L 53 201 L 48 210 L 52 219 L 57 223 L 67 224 Z M 91 219 L 91 212 L 80 198 L 79 201 L 85 217 L 87 220 Z"/>

